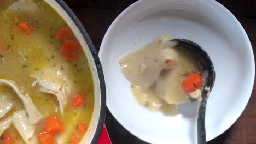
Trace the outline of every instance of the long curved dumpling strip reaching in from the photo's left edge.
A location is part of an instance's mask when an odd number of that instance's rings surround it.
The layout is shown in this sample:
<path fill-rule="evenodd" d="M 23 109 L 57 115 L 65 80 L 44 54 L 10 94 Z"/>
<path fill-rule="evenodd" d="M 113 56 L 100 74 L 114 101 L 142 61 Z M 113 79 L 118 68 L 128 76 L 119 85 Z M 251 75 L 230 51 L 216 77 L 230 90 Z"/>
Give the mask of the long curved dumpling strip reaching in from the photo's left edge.
<path fill-rule="evenodd" d="M 19 96 L 22 103 L 24 104 L 24 107 L 29 116 L 28 122 L 30 122 L 30 124 L 35 124 L 43 118 L 42 114 L 38 111 L 36 105 L 34 105 L 32 99 L 30 98 L 30 95 L 28 95 L 28 94 L 23 95 L 19 91 L 18 87 L 13 82 L 11 82 L 9 80 L 0 79 L 0 85 L 8 85 L 14 89 L 14 91 L 16 92 L 16 94 Z"/>

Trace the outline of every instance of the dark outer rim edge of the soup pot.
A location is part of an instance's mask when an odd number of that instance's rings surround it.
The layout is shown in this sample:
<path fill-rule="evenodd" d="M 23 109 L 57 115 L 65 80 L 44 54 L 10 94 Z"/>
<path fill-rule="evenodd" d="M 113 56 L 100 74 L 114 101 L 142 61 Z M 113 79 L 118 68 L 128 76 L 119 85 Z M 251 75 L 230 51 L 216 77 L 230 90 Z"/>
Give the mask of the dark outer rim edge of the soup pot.
<path fill-rule="evenodd" d="M 102 67 L 98 67 L 98 65 L 101 66 L 100 58 L 98 57 L 98 53 L 95 49 L 94 44 L 92 43 L 88 33 L 86 32 L 82 22 L 78 19 L 78 17 L 74 14 L 71 8 L 68 7 L 68 5 L 62 1 L 62 0 L 55 0 L 60 7 L 66 11 L 67 15 L 71 18 L 71 20 L 74 22 L 75 26 L 79 29 L 80 33 L 83 35 L 83 38 L 85 39 L 86 44 L 88 45 L 88 48 L 91 52 L 91 56 L 94 59 L 95 65 L 97 65 L 97 75 L 98 75 L 98 80 L 99 80 L 99 85 L 100 85 L 100 116 L 98 119 L 98 124 L 96 127 L 96 131 L 94 134 L 94 137 L 92 137 L 91 143 L 97 143 L 101 131 L 103 128 L 103 124 L 105 121 L 105 115 L 106 115 L 106 86 L 105 86 L 105 80 L 104 80 L 104 75 L 103 75 L 103 70 Z"/>

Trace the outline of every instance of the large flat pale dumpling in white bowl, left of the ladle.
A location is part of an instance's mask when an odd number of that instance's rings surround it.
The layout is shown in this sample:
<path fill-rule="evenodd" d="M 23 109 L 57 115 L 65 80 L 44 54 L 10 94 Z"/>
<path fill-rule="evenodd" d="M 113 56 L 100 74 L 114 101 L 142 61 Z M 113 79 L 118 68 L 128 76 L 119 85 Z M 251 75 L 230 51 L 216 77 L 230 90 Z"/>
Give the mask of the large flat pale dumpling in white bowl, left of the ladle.
<path fill-rule="evenodd" d="M 172 49 L 177 43 L 166 43 L 168 39 L 172 37 L 161 35 L 119 60 L 121 72 L 132 85 L 149 88 L 158 79 L 162 69 L 174 69 L 178 65 L 178 53 Z"/>

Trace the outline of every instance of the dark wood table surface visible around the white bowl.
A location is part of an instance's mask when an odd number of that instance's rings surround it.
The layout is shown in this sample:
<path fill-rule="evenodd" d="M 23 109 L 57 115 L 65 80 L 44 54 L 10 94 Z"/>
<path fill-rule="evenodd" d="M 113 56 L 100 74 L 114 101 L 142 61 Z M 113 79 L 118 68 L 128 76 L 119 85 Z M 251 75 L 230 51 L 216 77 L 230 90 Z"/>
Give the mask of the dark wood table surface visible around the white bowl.
<path fill-rule="evenodd" d="M 66 1 L 79 19 L 97 50 L 112 21 L 135 0 L 67 0 Z M 219 0 L 241 22 L 251 40 L 254 55 L 256 51 L 256 1 Z M 146 144 L 125 130 L 107 110 L 106 125 L 113 144 Z M 255 144 L 256 143 L 256 87 L 249 103 L 240 118 L 225 133 L 209 144 Z"/>

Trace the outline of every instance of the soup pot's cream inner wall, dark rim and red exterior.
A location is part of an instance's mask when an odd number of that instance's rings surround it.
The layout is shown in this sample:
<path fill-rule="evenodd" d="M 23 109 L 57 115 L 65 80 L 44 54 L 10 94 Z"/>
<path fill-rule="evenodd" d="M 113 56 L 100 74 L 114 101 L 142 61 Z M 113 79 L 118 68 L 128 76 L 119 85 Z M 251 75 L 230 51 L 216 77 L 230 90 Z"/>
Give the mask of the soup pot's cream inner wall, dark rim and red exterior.
<path fill-rule="evenodd" d="M 53 9 L 55 9 L 57 13 L 66 21 L 67 25 L 71 27 L 75 37 L 77 37 L 80 45 L 82 46 L 90 65 L 92 79 L 94 82 L 94 111 L 92 113 L 88 131 L 80 143 L 111 143 L 104 125 L 106 113 L 106 88 L 98 53 L 82 23 L 78 20 L 77 16 L 75 16 L 71 8 L 69 8 L 65 2 L 62 0 L 44 1 L 53 7 Z"/>

